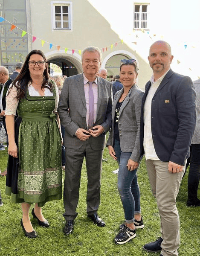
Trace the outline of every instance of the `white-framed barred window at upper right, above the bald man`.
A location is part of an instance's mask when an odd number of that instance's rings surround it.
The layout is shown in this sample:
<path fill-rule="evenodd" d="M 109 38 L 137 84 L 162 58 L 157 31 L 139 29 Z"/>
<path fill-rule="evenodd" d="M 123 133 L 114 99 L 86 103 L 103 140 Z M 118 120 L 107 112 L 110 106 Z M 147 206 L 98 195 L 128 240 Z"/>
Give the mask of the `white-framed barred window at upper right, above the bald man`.
<path fill-rule="evenodd" d="M 148 3 L 134 4 L 133 29 L 148 29 Z"/>

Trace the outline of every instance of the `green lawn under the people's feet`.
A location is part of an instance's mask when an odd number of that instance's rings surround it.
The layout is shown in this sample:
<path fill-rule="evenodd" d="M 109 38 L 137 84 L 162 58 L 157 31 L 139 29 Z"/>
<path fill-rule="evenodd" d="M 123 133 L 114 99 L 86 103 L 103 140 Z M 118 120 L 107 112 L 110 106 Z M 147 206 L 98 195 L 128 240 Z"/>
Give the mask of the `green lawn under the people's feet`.
<path fill-rule="evenodd" d="M 85 164 L 82 169 L 80 197 L 71 236 L 64 236 L 63 201 L 48 202 L 43 207 L 43 214 L 50 227 L 39 227 L 31 217 L 33 227 L 38 233 L 36 239 L 26 238 L 20 226 L 20 204 L 11 204 L 5 195 L 6 177 L 0 177 L 0 189 L 3 207 L 0 207 L 0 256 L 159 256 L 159 253 L 147 253 L 142 250 L 145 243 L 156 240 L 159 236 L 159 214 L 155 198 L 151 194 L 144 159 L 138 171 L 141 192 L 141 208 L 145 227 L 137 230 L 136 238 L 123 245 L 116 245 L 113 238 L 124 221 L 124 213 L 116 188 L 117 163 L 111 159 L 107 148 L 104 150 L 101 179 L 101 204 L 99 216 L 106 222 L 105 227 L 94 225 L 86 214 L 87 175 Z M 0 169 L 6 169 L 7 150 L 0 151 Z M 187 177 L 183 179 L 177 196 L 177 208 L 180 215 L 180 256 L 200 255 L 200 208 L 186 207 Z M 200 193 L 199 193 L 200 194 Z M 32 209 L 32 207 L 31 207 Z"/>

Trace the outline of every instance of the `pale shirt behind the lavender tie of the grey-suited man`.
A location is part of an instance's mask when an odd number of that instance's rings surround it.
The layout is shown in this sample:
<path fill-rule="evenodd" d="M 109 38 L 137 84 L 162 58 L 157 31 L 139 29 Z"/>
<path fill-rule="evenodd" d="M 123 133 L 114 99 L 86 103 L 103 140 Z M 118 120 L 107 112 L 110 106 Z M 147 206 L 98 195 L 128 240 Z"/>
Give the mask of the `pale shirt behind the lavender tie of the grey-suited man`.
<path fill-rule="evenodd" d="M 88 79 L 86 76 L 83 74 L 83 83 L 84 83 L 84 91 L 85 91 L 85 102 L 86 102 L 86 108 L 87 108 L 87 113 L 86 113 L 86 123 L 88 126 L 88 119 L 89 119 L 89 84 L 88 84 Z M 94 94 L 94 123 L 96 122 L 96 116 L 97 116 L 97 101 L 98 101 L 98 84 L 97 84 L 97 77 L 93 81 L 93 94 Z"/>

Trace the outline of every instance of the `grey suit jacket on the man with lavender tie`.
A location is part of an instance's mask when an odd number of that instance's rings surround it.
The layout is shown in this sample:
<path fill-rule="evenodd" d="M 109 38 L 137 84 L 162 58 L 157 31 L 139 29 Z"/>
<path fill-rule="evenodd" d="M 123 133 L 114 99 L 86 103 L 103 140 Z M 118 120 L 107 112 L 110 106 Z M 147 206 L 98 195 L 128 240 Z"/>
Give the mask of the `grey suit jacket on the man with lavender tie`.
<path fill-rule="evenodd" d="M 104 134 L 98 137 L 90 137 L 90 145 L 93 150 L 104 148 L 105 134 L 109 131 L 112 123 L 112 105 L 112 84 L 98 77 L 97 117 L 94 126 L 102 125 Z M 86 143 L 75 137 L 78 128 L 87 129 L 86 112 L 83 73 L 66 78 L 58 104 L 58 114 L 65 128 L 65 147 L 81 148 L 83 143 Z"/>

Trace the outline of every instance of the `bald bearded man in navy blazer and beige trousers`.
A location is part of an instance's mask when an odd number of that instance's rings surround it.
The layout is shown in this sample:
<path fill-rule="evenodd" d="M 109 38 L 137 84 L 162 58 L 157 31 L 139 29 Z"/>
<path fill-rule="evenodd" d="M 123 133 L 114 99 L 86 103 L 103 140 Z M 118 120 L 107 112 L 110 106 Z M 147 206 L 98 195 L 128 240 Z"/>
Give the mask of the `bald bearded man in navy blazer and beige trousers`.
<path fill-rule="evenodd" d="M 161 218 L 162 236 L 145 244 L 148 252 L 177 256 L 180 244 L 176 197 L 189 157 L 196 123 L 196 93 L 187 76 L 174 73 L 171 47 L 165 41 L 151 45 L 148 61 L 153 70 L 142 98 L 140 148 Z"/>

